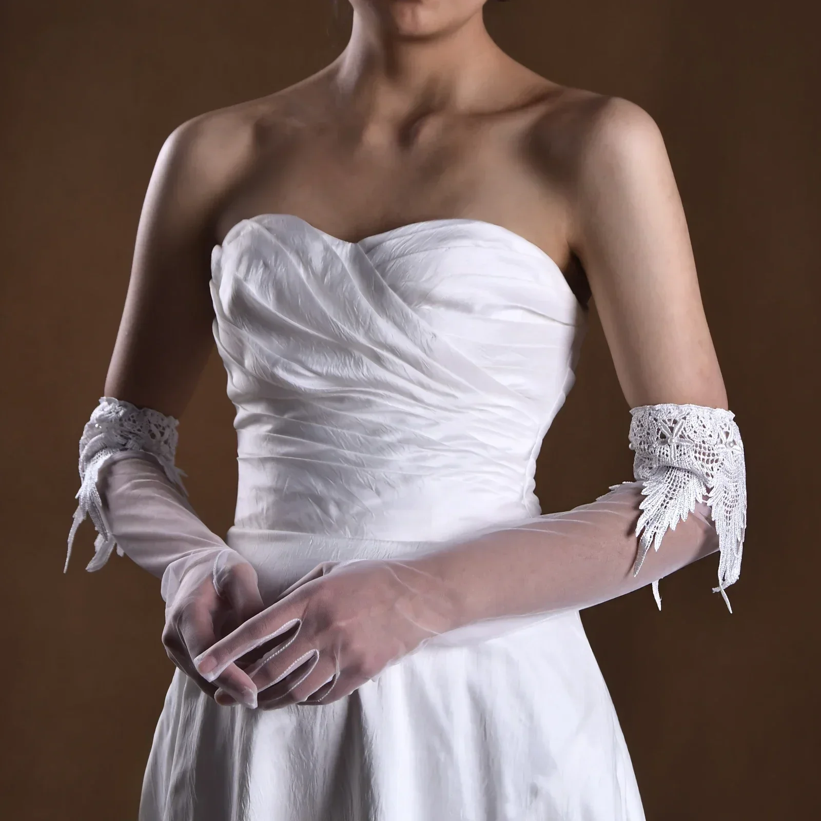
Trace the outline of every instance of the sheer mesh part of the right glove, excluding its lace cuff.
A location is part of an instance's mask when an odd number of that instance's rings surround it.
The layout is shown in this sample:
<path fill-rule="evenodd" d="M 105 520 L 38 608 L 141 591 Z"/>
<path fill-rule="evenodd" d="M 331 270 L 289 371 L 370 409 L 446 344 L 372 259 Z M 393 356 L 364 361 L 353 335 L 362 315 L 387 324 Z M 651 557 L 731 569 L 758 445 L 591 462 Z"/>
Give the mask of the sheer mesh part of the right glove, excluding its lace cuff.
<path fill-rule="evenodd" d="M 641 489 L 619 486 L 571 511 L 421 555 L 323 562 L 195 658 L 196 668 L 224 690 L 234 663 L 245 667 L 248 654 L 263 652 L 245 668 L 260 708 L 329 704 L 427 644 L 493 639 L 649 585 L 718 548 L 702 503 L 634 575 Z"/>

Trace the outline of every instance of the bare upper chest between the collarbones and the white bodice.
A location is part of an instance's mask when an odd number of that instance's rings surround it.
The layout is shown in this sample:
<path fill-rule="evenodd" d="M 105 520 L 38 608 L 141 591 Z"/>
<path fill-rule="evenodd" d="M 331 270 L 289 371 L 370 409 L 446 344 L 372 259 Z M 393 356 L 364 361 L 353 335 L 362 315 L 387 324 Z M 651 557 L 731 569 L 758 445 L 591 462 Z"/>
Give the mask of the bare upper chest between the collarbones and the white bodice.
<path fill-rule="evenodd" d="M 292 213 L 356 242 L 412 222 L 481 219 L 565 268 L 565 204 L 528 153 L 528 125 L 427 118 L 399 132 L 314 124 L 269 136 L 222 222 Z"/>

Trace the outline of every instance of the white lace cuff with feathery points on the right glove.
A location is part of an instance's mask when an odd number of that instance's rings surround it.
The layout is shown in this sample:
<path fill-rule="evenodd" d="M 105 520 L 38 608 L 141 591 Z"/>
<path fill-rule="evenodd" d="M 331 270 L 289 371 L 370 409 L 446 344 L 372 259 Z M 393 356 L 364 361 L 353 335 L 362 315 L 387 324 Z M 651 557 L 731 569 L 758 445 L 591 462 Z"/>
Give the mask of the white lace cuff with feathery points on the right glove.
<path fill-rule="evenodd" d="M 744 446 L 735 414 L 701 405 L 643 405 L 631 409 L 630 448 L 633 472 L 643 481 L 643 511 L 636 525 L 640 536 L 633 575 L 638 574 L 650 545 L 658 550 L 667 528 L 705 502 L 718 533 L 718 587 L 732 612 L 725 588 L 738 580 L 747 524 Z M 611 490 L 619 487 L 612 485 Z M 658 580 L 653 583 L 662 608 Z"/>

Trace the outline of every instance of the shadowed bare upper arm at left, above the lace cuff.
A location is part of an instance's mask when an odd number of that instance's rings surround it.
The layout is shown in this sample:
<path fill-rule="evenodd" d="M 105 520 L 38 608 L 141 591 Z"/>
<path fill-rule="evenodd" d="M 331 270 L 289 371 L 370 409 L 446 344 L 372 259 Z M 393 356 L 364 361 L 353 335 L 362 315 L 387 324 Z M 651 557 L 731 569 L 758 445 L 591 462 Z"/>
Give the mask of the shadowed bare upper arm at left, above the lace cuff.
<path fill-rule="evenodd" d="M 179 416 L 213 345 L 213 215 L 227 177 L 206 122 L 163 144 L 145 196 L 105 394 Z"/>

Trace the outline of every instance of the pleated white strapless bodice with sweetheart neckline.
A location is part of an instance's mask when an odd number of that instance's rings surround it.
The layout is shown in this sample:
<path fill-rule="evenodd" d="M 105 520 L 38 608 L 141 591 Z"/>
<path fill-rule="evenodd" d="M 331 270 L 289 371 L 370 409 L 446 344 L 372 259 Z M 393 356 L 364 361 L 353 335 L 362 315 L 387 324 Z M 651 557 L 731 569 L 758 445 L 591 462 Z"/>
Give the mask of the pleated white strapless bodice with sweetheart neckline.
<path fill-rule="evenodd" d="M 536 245 L 458 218 L 351 243 L 266 214 L 212 275 L 236 527 L 438 541 L 539 515 L 586 313 Z"/>

